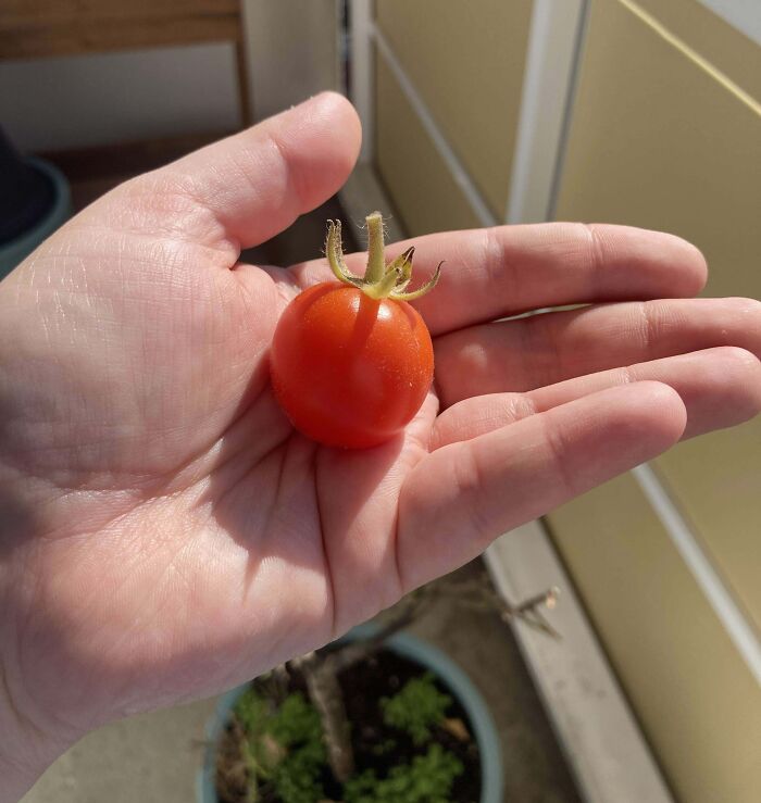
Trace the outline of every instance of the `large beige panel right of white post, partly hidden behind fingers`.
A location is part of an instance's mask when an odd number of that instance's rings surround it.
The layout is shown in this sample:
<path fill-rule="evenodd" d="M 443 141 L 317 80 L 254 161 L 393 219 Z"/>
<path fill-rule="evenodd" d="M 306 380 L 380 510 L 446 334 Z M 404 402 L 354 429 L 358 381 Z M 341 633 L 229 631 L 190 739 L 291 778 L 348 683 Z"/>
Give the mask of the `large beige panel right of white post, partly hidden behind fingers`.
<path fill-rule="evenodd" d="M 708 294 L 761 298 L 761 108 L 626 4 L 597 0 L 557 216 L 682 235 L 708 258 Z M 761 626 L 761 421 L 658 466 Z"/>

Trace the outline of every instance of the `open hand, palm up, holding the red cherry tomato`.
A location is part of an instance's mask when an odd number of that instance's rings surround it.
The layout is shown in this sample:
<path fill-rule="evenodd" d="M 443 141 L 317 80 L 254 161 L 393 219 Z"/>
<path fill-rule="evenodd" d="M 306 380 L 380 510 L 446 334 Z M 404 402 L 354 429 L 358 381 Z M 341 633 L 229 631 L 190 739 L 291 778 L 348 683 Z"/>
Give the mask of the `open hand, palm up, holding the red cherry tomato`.
<path fill-rule="evenodd" d="M 329 272 L 238 258 L 333 195 L 359 141 L 350 105 L 320 96 L 127 181 L 0 285 L 11 795 L 88 729 L 324 644 L 501 532 L 761 407 L 761 304 L 689 299 L 706 278 L 691 246 L 503 227 L 415 241 L 419 281 L 447 269 L 417 304 L 436 387 L 403 437 L 307 441 L 273 400 L 267 347 Z M 674 300 L 645 301 L 660 297 Z M 591 305 L 494 323 L 576 303 Z"/>

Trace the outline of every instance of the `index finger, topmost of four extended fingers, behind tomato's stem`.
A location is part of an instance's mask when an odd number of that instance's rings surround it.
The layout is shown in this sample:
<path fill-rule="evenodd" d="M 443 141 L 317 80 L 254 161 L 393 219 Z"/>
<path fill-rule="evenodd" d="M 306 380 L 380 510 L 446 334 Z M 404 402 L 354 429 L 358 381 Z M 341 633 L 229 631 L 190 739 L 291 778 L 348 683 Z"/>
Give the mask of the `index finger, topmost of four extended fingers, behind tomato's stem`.
<path fill-rule="evenodd" d="M 706 283 L 706 260 L 685 240 L 628 226 L 542 223 L 417 237 L 411 289 L 444 260 L 436 290 L 414 302 L 432 334 L 526 310 L 594 301 L 679 298 Z M 347 258 L 361 271 L 364 254 Z M 324 261 L 297 266 L 300 283 L 328 277 Z"/>

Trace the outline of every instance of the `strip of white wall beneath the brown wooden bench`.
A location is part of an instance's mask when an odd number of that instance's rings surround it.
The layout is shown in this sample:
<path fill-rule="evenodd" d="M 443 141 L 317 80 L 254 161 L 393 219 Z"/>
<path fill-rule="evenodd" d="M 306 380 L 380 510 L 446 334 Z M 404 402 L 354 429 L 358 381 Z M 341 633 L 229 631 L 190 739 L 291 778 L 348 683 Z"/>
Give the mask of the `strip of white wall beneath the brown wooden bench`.
<path fill-rule="evenodd" d="M 0 125 L 23 151 L 236 128 L 233 46 L 0 62 Z"/>

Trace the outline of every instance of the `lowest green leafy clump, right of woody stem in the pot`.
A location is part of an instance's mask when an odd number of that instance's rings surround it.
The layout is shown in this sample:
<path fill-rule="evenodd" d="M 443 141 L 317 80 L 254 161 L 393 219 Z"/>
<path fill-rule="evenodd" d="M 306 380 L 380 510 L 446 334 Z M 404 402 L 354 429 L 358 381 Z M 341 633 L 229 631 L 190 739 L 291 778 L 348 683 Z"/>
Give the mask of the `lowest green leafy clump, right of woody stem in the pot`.
<path fill-rule="evenodd" d="M 346 803 L 450 803 L 454 779 L 464 768 L 440 744 L 432 744 L 424 755 L 400 764 L 388 777 L 378 779 L 367 769 L 344 787 Z"/>

